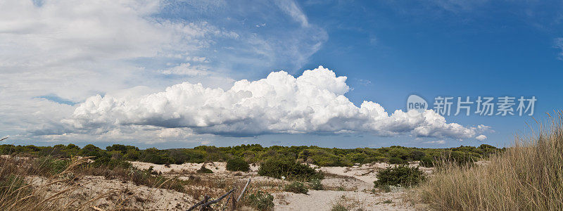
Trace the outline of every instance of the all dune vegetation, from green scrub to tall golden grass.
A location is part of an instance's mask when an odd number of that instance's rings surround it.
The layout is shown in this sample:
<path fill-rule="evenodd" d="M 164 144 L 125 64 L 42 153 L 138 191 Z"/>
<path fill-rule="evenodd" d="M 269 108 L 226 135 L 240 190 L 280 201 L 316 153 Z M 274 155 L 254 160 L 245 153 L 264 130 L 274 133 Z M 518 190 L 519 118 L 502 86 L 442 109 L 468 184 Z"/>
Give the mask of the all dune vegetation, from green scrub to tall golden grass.
<path fill-rule="evenodd" d="M 512 147 L 502 149 L 483 144 L 479 147 L 441 149 L 241 145 L 141 150 L 134 146 L 115 144 L 104 150 L 93 145 L 80 148 L 74 144 L 52 147 L 4 144 L 0 146 L 0 154 L 3 154 L 0 158 L 1 210 L 91 207 L 89 200 L 105 196 L 88 196 L 88 200 L 80 203 L 61 201 L 66 192 L 73 190 L 73 183 L 77 178 L 88 176 L 132 181 L 149 188 L 165 188 L 185 193 L 192 200 L 203 197 L 202 190 L 189 188 L 194 182 L 200 185 L 201 180 L 184 181 L 161 176 L 160 172 L 153 172 L 152 169 L 139 170 L 132 167 L 128 161 L 168 167 L 170 164 L 186 162 L 217 161 L 224 162 L 226 170 L 238 172 L 234 175 L 240 175 L 241 172 L 250 175 L 249 164 L 258 164 L 260 168 L 255 174 L 286 179 L 275 184 L 274 189 L 293 193 L 307 193 L 309 189 L 322 190 L 320 180 L 324 175 L 331 175 L 317 171 L 317 167 L 301 163 L 348 168 L 353 163 L 388 162 L 396 165 L 378 170 L 379 180 L 374 182 L 375 188 L 410 187 L 407 200 L 415 205 L 424 205 L 429 210 L 563 210 L 562 113 L 551 118 L 548 126 L 540 124 L 537 134 L 526 138 L 517 137 Z M 433 166 L 434 172 L 423 173 L 417 167 L 405 165 L 411 161 L 419 161 L 420 166 Z M 198 174 L 194 175 L 215 174 L 215 168 L 206 169 L 205 166 L 209 165 L 201 165 L 201 170 L 207 172 L 196 172 Z M 46 198 L 42 195 L 44 189 L 52 184 L 37 186 L 30 181 L 34 178 L 65 184 L 70 189 L 61 189 L 60 193 L 53 193 Z M 220 188 L 219 192 L 235 184 L 242 185 L 238 184 L 239 181 L 228 185 L 218 185 L 213 179 L 210 181 L 213 181 L 211 186 Z M 129 193 L 120 194 L 126 196 Z M 255 186 L 247 197 L 242 198 L 241 205 L 271 210 L 272 195 Z"/>

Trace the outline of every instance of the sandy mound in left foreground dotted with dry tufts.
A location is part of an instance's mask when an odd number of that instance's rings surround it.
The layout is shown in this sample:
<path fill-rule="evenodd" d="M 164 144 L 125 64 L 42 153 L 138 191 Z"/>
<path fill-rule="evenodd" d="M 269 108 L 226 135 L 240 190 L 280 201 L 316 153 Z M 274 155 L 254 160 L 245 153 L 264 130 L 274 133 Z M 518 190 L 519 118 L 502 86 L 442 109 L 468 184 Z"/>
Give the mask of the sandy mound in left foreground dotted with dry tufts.
<path fill-rule="evenodd" d="M 119 210 L 127 207 L 128 210 L 187 210 L 196 200 L 185 193 L 179 193 L 163 188 L 149 188 L 137 186 L 130 181 L 117 179 L 105 179 L 104 177 L 88 176 L 82 177 L 71 185 L 50 184 L 43 177 L 28 177 L 27 183 L 42 188 L 45 196 L 56 196 L 59 191 L 65 191 L 58 203 L 71 205 L 69 210 L 82 207 L 85 202 L 93 202 L 86 208 L 95 210 Z M 72 207 L 72 208 L 71 208 Z M 87 210 L 90 210 L 87 209 Z"/>

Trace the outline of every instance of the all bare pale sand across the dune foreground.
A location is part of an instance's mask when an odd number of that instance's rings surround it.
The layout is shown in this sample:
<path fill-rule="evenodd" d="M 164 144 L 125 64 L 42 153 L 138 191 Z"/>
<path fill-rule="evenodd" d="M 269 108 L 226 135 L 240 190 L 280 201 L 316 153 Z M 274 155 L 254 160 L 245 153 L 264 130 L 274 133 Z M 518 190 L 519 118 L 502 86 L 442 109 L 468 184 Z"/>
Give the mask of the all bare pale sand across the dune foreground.
<path fill-rule="evenodd" d="M 182 165 L 156 165 L 147 162 L 132 162 L 134 167 L 146 170 L 153 167 L 153 171 L 160 172 L 167 177 L 179 179 L 194 179 L 193 186 L 187 186 L 192 191 L 220 196 L 225 188 L 234 184 L 244 184 L 251 178 L 251 187 L 267 191 L 274 196 L 274 210 L 331 210 L 335 205 L 342 205 L 348 210 L 417 210 L 410 203 L 404 202 L 405 191 L 395 190 L 383 193 L 374 190 L 373 181 L 377 180 L 377 171 L 388 167 L 385 163 L 355 165 L 353 167 L 312 167 L 326 172 L 327 176 L 321 181 L 324 190 L 310 190 L 307 194 L 283 191 L 284 184 L 290 181 L 258 176 L 258 165 L 251 165 L 249 172 L 229 172 L 225 162 L 184 163 Z M 213 174 L 198 174 L 197 170 L 205 165 Z M 411 165 L 417 166 L 417 163 Z M 431 168 L 421 169 L 431 172 Z M 42 177 L 29 177 L 27 182 L 33 186 L 44 186 L 49 183 Z M 217 184 L 224 183 L 224 187 Z M 215 187 L 209 187 L 209 185 Z M 207 187 L 206 187 L 207 186 Z M 229 186 L 229 187 L 227 187 Z M 51 184 L 42 189 L 46 196 L 56 196 L 56 193 L 66 188 L 72 189 L 64 193 L 60 203 L 81 207 L 84 202 L 94 200 L 88 207 L 92 210 L 117 210 L 127 207 L 137 210 L 187 210 L 198 200 L 194 199 L 194 192 L 179 193 L 163 188 L 137 186 L 130 181 L 105 179 L 104 177 L 80 177 L 72 186 L 68 184 Z M 247 207 L 248 208 L 248 207 Z M 245 209 L 248 210 L 248 209 Z"/>

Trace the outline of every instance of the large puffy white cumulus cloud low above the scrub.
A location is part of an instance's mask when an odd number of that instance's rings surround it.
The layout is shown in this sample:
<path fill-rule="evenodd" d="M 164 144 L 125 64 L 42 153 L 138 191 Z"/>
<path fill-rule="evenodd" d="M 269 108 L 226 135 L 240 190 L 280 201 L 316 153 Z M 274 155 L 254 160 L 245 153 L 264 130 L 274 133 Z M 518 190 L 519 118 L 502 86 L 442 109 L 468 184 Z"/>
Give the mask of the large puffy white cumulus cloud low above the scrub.
<path fill-rule="evenodd" d="M 433 110 L 390 115 L 372 101 L 358 107 L 344 96 L 349 90 L 346 77 L 320 66 L 299 77 L 279 71 L 253 82 L 243 79 L 228 90 L 184 82 L 144 96 L 91 96 L 63 122 L 76 130 L 147 125 L 226 136 L 369 132 L 464 139 L 479 132 L 447 123 Z"/>

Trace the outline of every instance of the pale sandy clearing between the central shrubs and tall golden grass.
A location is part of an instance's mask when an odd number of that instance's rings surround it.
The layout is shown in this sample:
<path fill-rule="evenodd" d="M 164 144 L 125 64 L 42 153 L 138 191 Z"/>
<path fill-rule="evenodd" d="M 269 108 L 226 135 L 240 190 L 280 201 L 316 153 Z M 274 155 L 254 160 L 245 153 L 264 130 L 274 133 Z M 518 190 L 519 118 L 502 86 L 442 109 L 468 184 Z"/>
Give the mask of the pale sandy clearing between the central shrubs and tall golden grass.
<path fill-rule="evenodd" d="M 410 165 L 418 166 L 418 163 Z M 320 167 L 331 175 L 322 180 L 325 190 L 309 191 L 307 195 L 276 193 L 275 210 L 331 210 L 337 204 L 348 210 L 416 210 L 410 203 L 403 202 L 403 189 L 394 193 L 374 191 L 377 171 L 389 166 L 387 163 L 373 163 L 353 167 Z M 432 168 L 420 169 L 432 171 Z"/>

